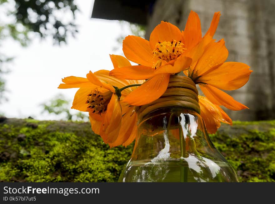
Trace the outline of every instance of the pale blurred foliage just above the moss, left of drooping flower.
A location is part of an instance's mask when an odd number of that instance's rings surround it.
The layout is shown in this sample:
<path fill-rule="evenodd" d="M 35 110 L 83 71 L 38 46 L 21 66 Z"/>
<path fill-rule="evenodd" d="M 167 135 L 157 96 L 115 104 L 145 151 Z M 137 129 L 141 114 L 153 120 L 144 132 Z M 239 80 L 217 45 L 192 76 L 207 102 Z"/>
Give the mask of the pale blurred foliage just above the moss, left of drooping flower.
<path fill-rule="evenodd" d="M 53 113 L 55 115 L 63 115 L 65 120 L 70 121 L 88 121 L 88 116 L 80 111 L 78 111 L 78 113 L 76 114 L 73 114 L 70 111 L 69 104 L 71 104 L 71 102 L 66 100 L 62 94 L 59 94 L 50 99 L 48 102 L 41 104 L 41 106 L 43 107 L 42 113 L 48 112 Z"/>

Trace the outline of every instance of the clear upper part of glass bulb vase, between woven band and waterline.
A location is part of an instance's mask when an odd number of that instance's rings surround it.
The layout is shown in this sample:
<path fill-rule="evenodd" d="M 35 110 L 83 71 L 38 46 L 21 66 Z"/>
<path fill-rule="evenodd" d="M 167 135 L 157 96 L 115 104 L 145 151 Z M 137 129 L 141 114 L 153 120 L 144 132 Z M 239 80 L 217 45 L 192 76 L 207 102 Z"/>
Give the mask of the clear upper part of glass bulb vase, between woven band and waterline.
<path fill-rule="evenodd" d="M 133 160 L 174 160 L 200 156 L 213 144 L 201 116 L 183 107 L 160 108 L 147 114 L 138 125 Z"/>

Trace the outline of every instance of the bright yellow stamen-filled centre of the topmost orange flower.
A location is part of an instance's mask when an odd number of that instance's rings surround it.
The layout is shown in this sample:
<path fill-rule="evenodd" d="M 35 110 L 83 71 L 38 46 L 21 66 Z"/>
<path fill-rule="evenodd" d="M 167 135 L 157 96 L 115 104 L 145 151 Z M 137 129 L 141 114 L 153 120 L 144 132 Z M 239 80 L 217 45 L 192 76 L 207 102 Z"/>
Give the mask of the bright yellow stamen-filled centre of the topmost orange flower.
<path fill-rule="evenodd" d="M 157 69 L 161 66 L 161 61 L 177 59 L 186 50 L 184 44 L 181 41 L 172 40 L 171 42 L 163 41 L 156 44 L 156 48 L 153 50 L 153 59 L 158 61 L 153 65 L 153 68 Z"/>

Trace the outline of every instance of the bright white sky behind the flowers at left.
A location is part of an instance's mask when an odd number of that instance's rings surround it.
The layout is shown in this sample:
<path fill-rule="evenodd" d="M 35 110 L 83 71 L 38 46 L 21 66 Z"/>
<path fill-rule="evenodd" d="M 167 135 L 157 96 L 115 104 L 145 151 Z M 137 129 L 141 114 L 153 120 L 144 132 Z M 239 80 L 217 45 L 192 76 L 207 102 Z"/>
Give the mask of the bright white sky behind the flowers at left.
<path fill-rule="evenodd" d="M 118 21 L 91 19 L 93 0 L 78 0 L 76 4 L 82 11 L 76 16 L 79 33 L 76 38 L 68 38 L 67 45 L 53 45 L 50 38 L 36 38 L 26 48 L 13 40 L 5 40 L 1 45 L 1 52 L 15 56 L 9 64 L 11 72 L 2 75 L 9 101 L 0 104 L 0 113 L 6 117 L 58 120 L 58 116 L 41 114 L 39 105 L 58 93 L 73 100 L 77 89 L 57 88 L 62 78 L 85 77 L 89 70 L 113 69 L 109 54 L 122 54 L 122 45 L 115 52 L 113 47 L 118 45 L 118 36 L 128 36 L 130 31 L 122 31 Z"/>

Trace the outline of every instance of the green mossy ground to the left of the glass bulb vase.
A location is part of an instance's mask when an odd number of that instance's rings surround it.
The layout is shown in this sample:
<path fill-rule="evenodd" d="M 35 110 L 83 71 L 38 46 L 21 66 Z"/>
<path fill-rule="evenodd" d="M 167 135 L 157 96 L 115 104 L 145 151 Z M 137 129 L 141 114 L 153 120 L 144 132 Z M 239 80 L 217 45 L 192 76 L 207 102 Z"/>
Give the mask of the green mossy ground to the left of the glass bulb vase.
<path fill-rule="evenodd" d="M 110 149 L 81 122 L 7 119 L 0 133 L 7 182 L 116 182 L 133 149 Z"/>

